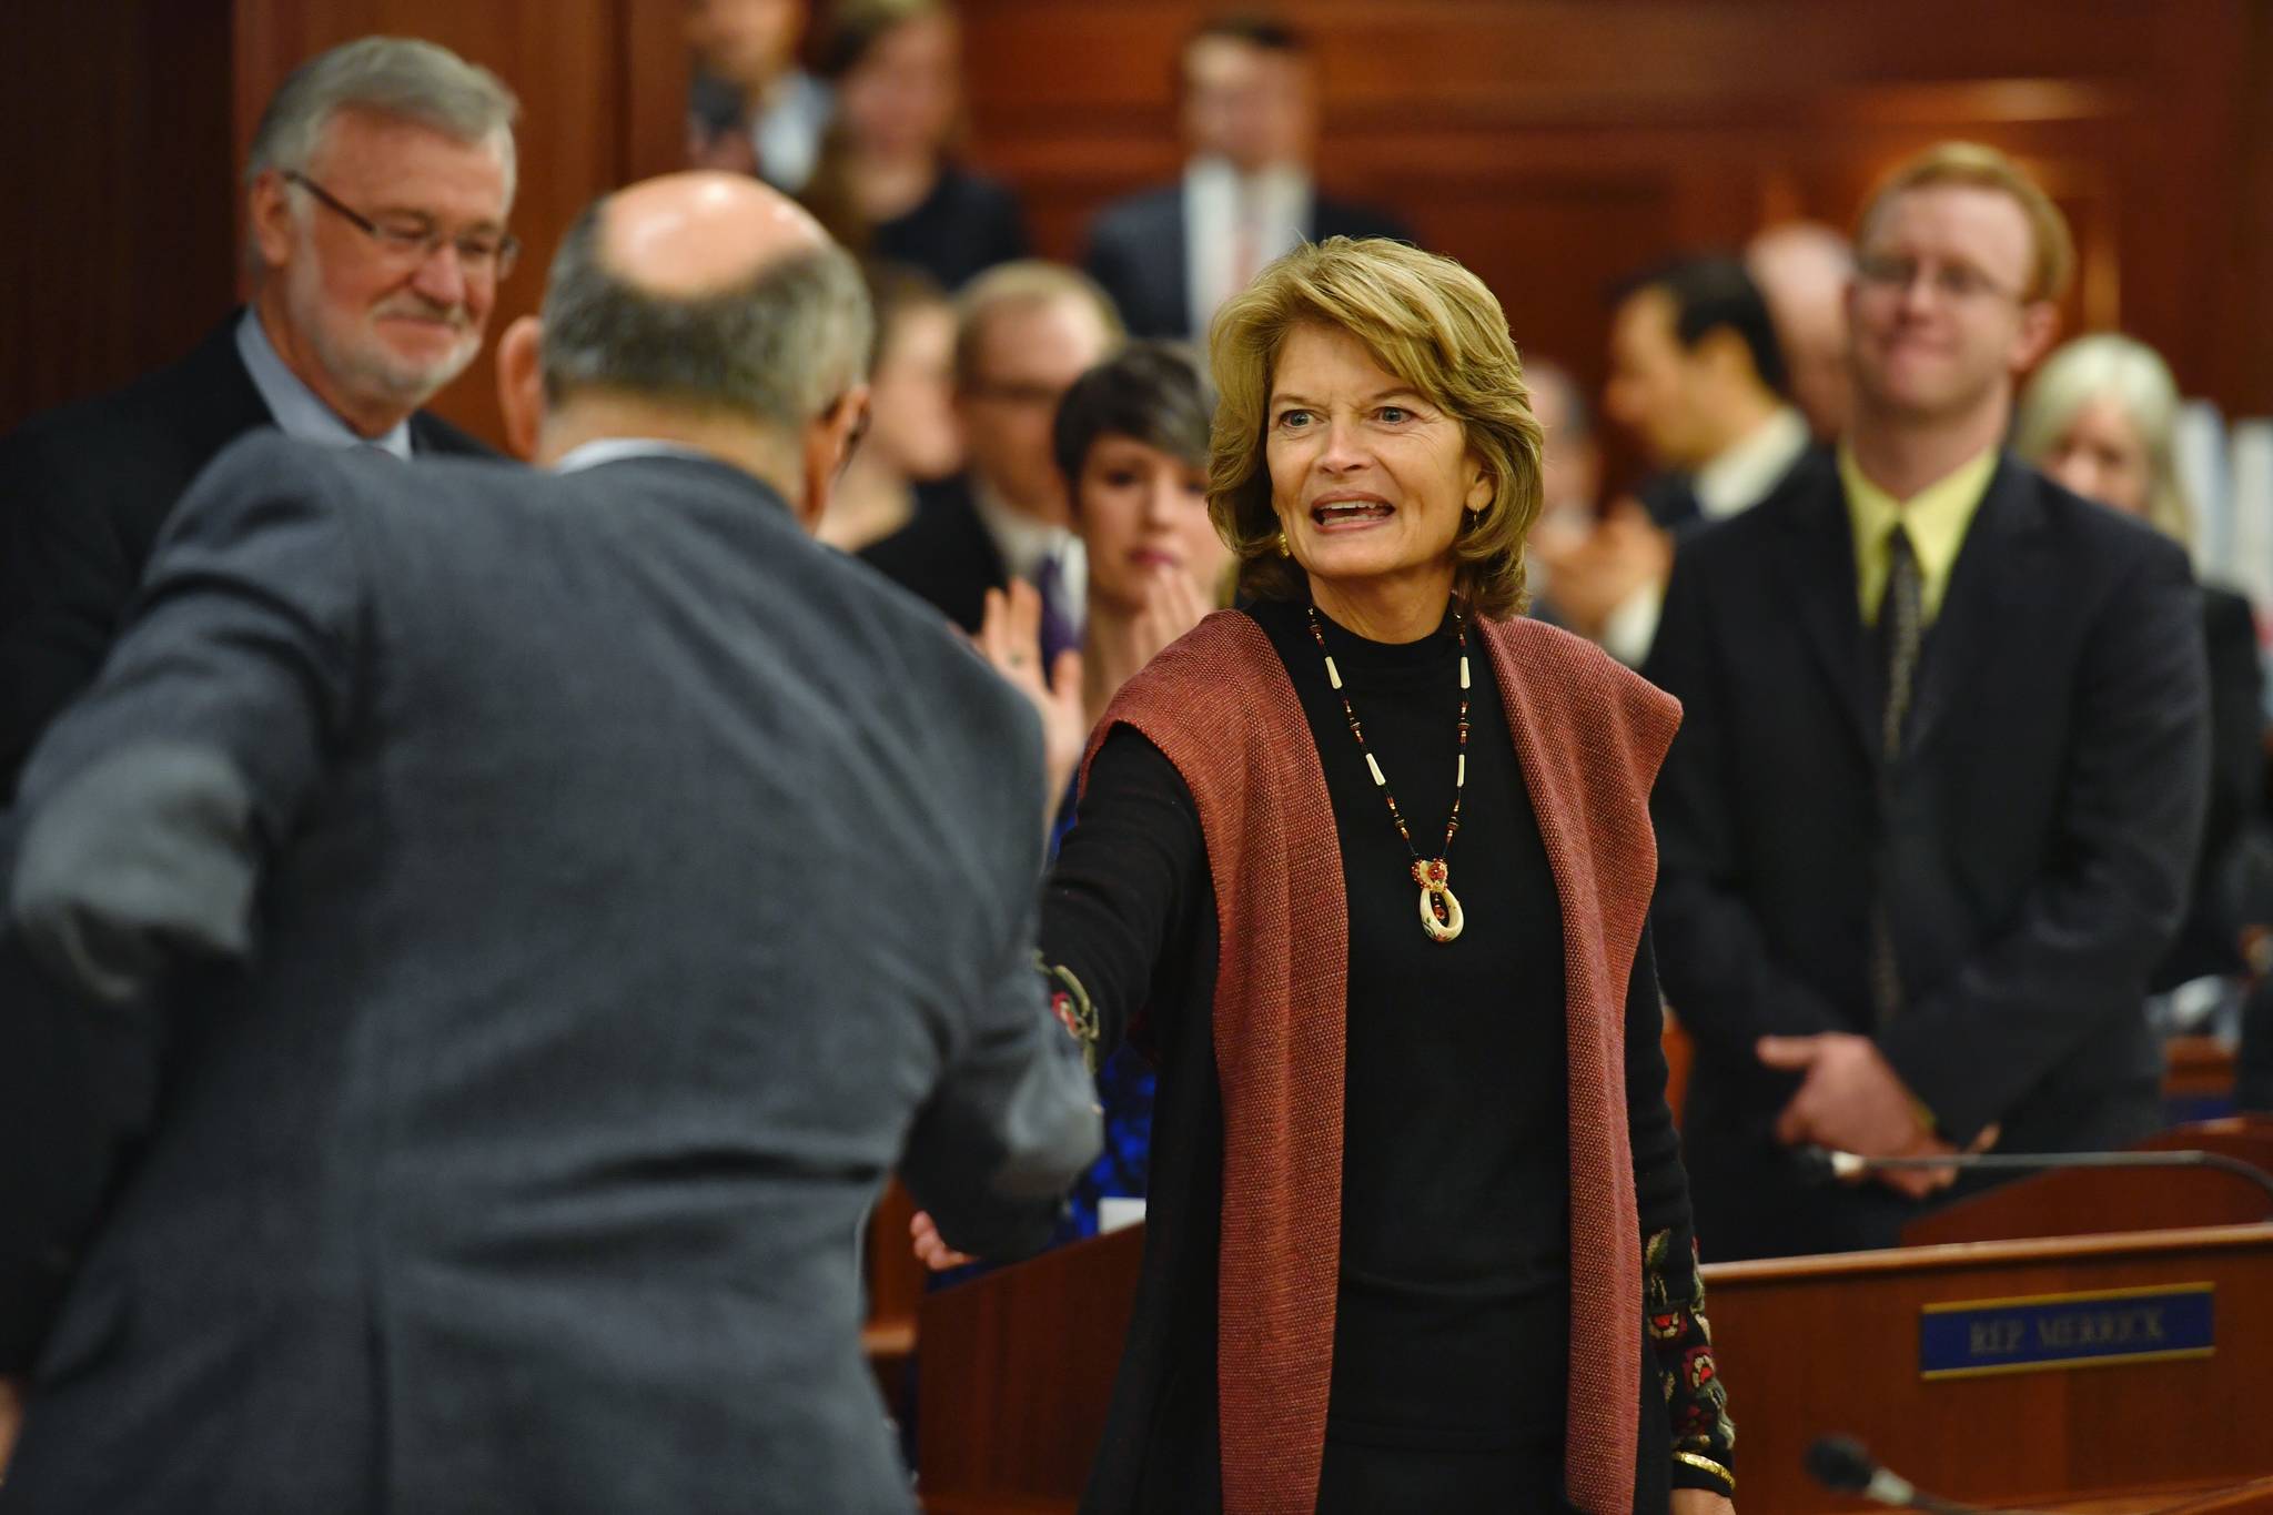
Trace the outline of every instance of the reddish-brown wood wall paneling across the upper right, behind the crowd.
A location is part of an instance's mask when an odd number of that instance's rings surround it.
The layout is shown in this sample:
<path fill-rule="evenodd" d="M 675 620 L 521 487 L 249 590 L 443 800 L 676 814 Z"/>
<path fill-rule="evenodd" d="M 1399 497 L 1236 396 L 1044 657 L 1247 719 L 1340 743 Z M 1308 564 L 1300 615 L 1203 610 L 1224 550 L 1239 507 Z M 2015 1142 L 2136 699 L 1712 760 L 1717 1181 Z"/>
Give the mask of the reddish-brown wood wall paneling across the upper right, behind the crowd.
<path fill-rule="evenodd" d="M 1175 173 L 1171 66 L 1205 9 L 966 0 L 977 157 L 1027 193 L 1046 252 L 1077 254 L 1098 204 Z M 1555 223 L 1552 261 L 1571 282 L 1537 334 L 1557 348 L 1600 343 L 1598 325 L 1580 341 L 1571 311 L 1618 273 L 1793 214 L 1846 225 L 1896 159 L 1971 136 L 2016 152 L 2075 218 L 2071 329 L 2121 323 L 2164 348 L 2189 388 L 2257 393 L 2243 370 L 2273 348 L 2273 316 L 2259 313 L 2273 304 L 2273 145 L 2257 145 L 2273 141 L 2266 0 L 1282 9 L 1318 41 L 1321 182 L 1396 207 L 1487 277 L 1523 277 L 1512 309 L 1532 302 L 1543 261 L 1516 243 Z M 1566 186 L 1593 175 L 1621 186 L 1602 195 L 1602 220 L 1564 214 L 1580 193 Z M 1643 179 L 1662 204 L 1648 225 L 1623 189 Z M 1557 209 L 1507 204 L 1541 186 Z M 2248 273 L 2203 277 L 2189 232 L 2228 225 L 2225 261 Z M 1562 357 L 1582 375 L 1600 361 Z"/>

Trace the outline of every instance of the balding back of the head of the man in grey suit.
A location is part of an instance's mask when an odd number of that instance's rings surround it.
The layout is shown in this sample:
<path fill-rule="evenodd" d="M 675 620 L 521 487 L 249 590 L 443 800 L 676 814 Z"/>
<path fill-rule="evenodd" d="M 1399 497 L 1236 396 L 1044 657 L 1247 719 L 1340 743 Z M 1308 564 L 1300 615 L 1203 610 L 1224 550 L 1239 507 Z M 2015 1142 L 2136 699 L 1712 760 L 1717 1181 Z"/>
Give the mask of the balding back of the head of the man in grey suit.
<path fill-rule="evenodd" d="M 741 175 L 664 175 L 561 238 L 546 402 L 607 391 L 796 432 L 861 382 L 871 325 L 859 268 L 793 200 Z"/>

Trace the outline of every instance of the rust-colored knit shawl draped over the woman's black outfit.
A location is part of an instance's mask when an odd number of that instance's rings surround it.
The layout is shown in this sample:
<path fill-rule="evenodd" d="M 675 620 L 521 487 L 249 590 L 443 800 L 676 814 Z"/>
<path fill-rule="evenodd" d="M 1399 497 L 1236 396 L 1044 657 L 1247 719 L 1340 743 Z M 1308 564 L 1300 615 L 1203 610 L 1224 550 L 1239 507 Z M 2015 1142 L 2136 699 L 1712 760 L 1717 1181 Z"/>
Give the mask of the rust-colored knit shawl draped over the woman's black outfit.
<path fill-rule="evenodd" d="M 1625 988 L 1657 879 L 1648 795 L 1680 704 L 1537 620 L 1480 622 L 1564 915 L 1571 1063 L 1571 1388 L 1564 1481 L 1634 1490 L 1641 1236 L 1625 1127 Z M 1348 902 L 1325 770 L 1271 638 L 1218 611 L 1121 688 L 1200 811 L 1223 1083 L 1218 1411 L 1227 1515 L 1307 1515 L 1325 1458 L 1341 1247 Z"/>

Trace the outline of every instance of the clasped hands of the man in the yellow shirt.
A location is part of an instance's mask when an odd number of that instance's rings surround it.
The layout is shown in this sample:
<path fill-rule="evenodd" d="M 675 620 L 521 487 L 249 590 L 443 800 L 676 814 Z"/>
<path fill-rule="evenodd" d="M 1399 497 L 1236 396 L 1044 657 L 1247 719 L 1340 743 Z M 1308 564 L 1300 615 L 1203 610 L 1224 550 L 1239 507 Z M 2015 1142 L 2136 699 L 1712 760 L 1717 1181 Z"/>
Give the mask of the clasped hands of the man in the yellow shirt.
<path fill-rule="evenodd" d="M 1832 1147 L 1871 1158 L 1955 1156 L 1957 1147 L 1934 1136 L 1923 1106 L 1868 1036 L 1823 1031 L 1818 1036 L 1762 1036 L 1752 1047 L 1762 1063 L 1800 1074 L 1800 1090 L 1775 1118 L 1775 1140 L 1787 1147 Z M 1998 1129 L 1989 1127 L 1966 1152 L 1987 1152 Z M 1955 1167 L 1896 1167 L 1868 1174 L 1912 1199 L 1948 1188 Z"/>

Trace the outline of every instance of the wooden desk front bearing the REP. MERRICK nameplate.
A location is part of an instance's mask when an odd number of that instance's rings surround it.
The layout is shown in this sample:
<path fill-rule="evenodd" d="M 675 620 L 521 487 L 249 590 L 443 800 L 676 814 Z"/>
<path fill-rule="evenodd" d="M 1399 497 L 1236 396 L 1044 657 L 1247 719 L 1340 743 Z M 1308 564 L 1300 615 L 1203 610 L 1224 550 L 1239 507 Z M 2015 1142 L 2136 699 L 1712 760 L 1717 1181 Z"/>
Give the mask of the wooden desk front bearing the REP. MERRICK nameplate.
<path fill-rule="evenodd" d="M 2171 1504 L 2273 1476 L 2262 1392 L 2273 1224 L 1723 1263 L 1705 1281 L 1739 1429 L 1739 1508 L 1868 1508 L 1809 1485 L 1800 1458 L 1827 1433 L 1857 1436 L 1918 1488 L 1975 1504 Z M 2214 1286 L 2214 1356 L 1918 1374 L 1923 1306 L 2173 1283 Z"/>

